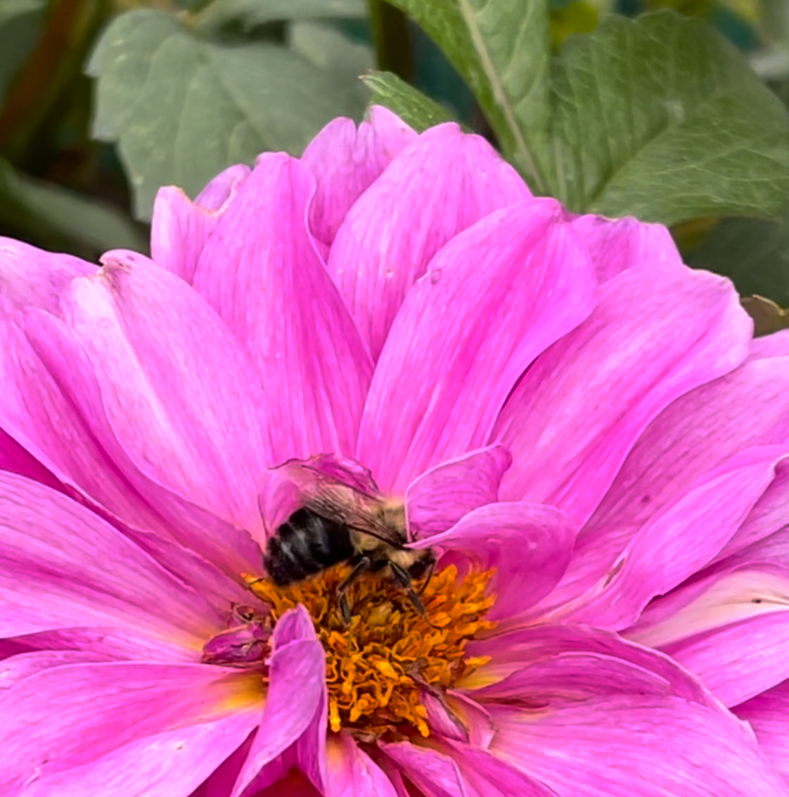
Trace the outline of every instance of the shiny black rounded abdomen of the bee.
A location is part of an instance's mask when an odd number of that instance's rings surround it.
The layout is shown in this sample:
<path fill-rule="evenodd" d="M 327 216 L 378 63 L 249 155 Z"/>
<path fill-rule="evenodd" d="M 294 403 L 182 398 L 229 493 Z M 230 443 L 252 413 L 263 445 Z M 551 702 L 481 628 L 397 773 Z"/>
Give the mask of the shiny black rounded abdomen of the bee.
<path fill-rule="evenodd" d="M 301 508 L 269 537 L 263 563 L 272 581 L 284 587 L 351 556 L 353 548 L 346 526 Z"/>

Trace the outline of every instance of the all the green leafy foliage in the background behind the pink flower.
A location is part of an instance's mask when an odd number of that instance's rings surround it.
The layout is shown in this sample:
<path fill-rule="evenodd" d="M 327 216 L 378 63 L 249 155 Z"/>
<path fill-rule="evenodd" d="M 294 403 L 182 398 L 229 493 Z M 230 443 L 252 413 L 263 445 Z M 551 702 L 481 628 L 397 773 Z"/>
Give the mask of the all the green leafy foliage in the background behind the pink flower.
<path fill-rule="evenodd" d="M 0 0 L 0 234 L 144 250 L 159 186 L 375 101 L 787 304 L 787 100 L 786 0 Z"/>

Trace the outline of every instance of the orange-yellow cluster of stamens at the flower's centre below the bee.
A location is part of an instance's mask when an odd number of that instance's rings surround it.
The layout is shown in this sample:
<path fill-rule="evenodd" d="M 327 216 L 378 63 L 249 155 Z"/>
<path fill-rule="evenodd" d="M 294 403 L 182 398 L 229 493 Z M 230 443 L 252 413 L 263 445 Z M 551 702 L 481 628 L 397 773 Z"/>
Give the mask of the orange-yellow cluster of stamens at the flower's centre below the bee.
<path fill-rule="evenodd" d="M 390 579 L 365 575 L 347 591 L 349 626 L 337 599 L 337 586 L 347 572 L 347 566 L 332 567 L 290 587 L 245 579 L 271 605 L 275 620 L 299 603 L 312 615 L 326 650 L 333 731 L 347 728 L 372 739 L 406 736 L 416 728 L 429 736 L 423 691 L 442 694 L 488 661 L 467 657 L 465 647 L 495 625 L 485 620 L 495 600 L 485 592 L 493 571 L 471 571 L 463 579 L 453 566 L 436 572 L 422 593 L 423 615 Z"/>

